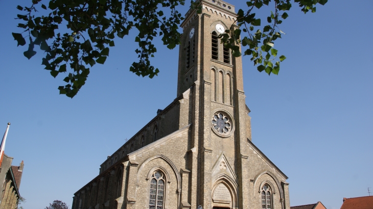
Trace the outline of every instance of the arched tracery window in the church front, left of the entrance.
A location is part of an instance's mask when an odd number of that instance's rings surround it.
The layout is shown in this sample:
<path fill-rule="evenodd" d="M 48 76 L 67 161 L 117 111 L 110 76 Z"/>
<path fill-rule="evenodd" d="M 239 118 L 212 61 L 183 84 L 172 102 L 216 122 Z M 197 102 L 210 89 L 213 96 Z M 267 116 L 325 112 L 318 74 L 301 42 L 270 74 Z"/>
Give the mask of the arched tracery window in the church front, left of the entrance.
<path fill-rule="evenodd" d="M 165 175 L 155 171 L 150 180 L 149 209 L 163 209 L 165 199 Z"/>

